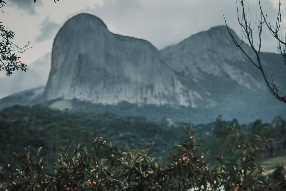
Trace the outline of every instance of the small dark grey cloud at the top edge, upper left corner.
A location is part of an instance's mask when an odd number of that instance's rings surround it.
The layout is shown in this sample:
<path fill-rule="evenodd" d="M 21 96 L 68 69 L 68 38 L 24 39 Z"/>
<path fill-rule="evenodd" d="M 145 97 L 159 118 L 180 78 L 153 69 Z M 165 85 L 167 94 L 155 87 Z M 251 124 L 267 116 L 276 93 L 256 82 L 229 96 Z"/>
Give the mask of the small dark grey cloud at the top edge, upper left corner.
<path fill-rule="evenodd" d="M 43 5 L 43 3 L 41 0 L 37 0 L 36 4 L 33 0 L 9 0 L 8 5 L 22 9 L 29 13 L 29 15 L 34 15 L 36 7 Z"/>

